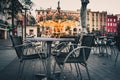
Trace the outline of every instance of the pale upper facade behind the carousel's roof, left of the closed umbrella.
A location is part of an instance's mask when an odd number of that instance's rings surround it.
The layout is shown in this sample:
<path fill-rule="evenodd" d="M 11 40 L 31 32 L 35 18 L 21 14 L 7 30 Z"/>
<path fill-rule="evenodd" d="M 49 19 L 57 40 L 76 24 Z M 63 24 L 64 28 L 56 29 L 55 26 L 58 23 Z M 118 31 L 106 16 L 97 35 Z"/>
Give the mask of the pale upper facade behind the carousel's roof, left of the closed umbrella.
<path fill-rule="evenodd" d="M 58 11 L 55 9 L 47 8 L 35 10 L 36 12 L 36 21 L 43 20 L 53 20 L 55 17 L 57 18 Z M 70 11 L 70 10 L 60 10 L 60 15 L 62 19 L 71 19 L 80 21 L 80 10 Z"/>

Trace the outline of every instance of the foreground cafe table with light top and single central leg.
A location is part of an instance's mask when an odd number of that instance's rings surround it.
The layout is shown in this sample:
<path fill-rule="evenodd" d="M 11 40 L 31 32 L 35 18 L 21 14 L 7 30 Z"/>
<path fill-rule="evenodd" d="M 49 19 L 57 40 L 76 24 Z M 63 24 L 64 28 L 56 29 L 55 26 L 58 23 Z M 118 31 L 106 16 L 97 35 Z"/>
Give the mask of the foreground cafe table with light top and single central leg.
<path fill-rule="evenodd" d="M 74 38 L 45 38 L 45 37 L 37 37 L 37 38 L 26 38 L 26 40 L 29 41 L 44 41 L 47 43 L 47 55 L 48 55 L 48 60 L 47 60 L 47 77 L 52 76 L 51 74 L 51 44 L 53 41 L 74 41 Z"/>

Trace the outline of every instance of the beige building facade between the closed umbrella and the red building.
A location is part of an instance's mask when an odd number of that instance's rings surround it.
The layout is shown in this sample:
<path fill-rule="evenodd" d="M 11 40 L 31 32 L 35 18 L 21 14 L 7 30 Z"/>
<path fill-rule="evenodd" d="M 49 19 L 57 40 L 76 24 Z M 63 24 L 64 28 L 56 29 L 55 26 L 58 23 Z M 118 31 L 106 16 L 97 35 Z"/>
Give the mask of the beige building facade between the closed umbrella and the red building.
<path fill-rule="evenodd" d="M 106 31 L 106 11 L 91 11 L 91 9 L 87 10 L 87 27 L 89 31 L 100 31 L 104 33 Z"/>

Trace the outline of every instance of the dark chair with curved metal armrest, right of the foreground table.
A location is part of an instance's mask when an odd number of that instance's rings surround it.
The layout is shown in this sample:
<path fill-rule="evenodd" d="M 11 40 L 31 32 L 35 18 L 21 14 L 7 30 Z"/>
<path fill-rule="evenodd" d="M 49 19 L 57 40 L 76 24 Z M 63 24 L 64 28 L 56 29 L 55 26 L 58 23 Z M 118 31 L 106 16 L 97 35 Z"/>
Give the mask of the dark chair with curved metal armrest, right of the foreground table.
<path fill-rule="evenodd" d="M 60 54 L 60 55 L 55 56 L 56 62 L 55 62 L 54 69 L 53 69 L 53 75 L 55 74 L 56 63 L 57 63 L 61 70 L 60 80 L 64 80 L 63 79 L 64 78 L 63 71 L 64 71 L 64 67 L 65 67 L 66 63 L 75 64 L 75 68 L 76 68 L 77 75 L 78 75 L 78 80 L 82 79 L 79 64 L 84 66 L 87 71 L 88 78 L 90 80 L 90 75 L 89 75 L 86 61 L 89 58 L 89 55 L 91 52 L 91 47 L 94 44 L 94 36 L 93 35 L 84 35 L 81 40 L 82 40 L 81 45 L 78 45 L 77 47 L 73 47 L 73 49 L 70 50 L 70 52 L 67 52 L 66 54 Z M 74 46 L 74 44 L 73 44 L 73 46 Z"/>

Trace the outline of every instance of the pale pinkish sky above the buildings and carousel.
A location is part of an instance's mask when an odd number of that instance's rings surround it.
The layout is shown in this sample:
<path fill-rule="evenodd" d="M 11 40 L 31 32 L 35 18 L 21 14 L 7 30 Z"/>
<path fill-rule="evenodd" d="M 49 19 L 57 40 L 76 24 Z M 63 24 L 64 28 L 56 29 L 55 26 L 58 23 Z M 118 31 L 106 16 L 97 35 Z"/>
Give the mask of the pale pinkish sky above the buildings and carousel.
<path fill-rule="evenodd" d="M 57 8 L 59 0 L 32 0 L 35 9 Z M 107 11 L 108 14 L 120 14 L 120 0 L 89 0 L 87 8 L 92 11 Z M 81 8 L 81 0 L 60 0 L 61 10 L 74 10 Z"/>

